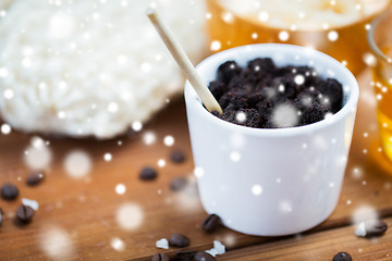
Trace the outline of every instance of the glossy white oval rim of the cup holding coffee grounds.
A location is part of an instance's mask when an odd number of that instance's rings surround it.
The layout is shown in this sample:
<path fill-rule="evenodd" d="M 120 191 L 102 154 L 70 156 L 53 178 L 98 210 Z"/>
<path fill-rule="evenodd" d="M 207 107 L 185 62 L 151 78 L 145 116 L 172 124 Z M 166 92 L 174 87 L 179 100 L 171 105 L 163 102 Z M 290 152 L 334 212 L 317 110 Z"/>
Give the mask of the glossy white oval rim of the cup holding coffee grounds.
<path fill-rule="evenodd" d="M 326 60 L 326 62 L 330 63 L 334 67 L 339 67 L 339 70 L 342 70 L 344 72 L 344 75 L 348 78 L 347 82 L 350 82 L 348 98 L 339 112 L 332 114 L 328 119 L 321 120 L 316 123 L 311 123 L 311 124 L 307 124 L 307 125 L 303 125 L 303 126 L 283 127 L 283 128 L 253 128 L 253 127 L 247 127 L 247 126 L 242 126 L 242 125 L 237 125 L 234 123 L 230 123 L 230 122 L 226 122 L 224 120 L 221 120 L 221 119 L 212 115 L 209 111 L 207 111 L 207 109 L 205 109 L 203 107 L 201 100 L 197 96 L 196 91 L 192 88 L 191 84 L 188 82 L 186 82 L 185 90 L 184 90 L 185 97 L 187 97 L 187 98 L 185 98 L 186 104 L 195 107 L 195 109 L 197 110 L 199 115 L 203 119 L 205 119 L 206 121 L 210 122 L 211 124 L 215 124 L 221 128 L 228 128 L 231 132 L 241 132 L 241 133 L 247 134 L 247 135 L 264 136 L 264 137 L 266 137 L 266 136 L 270 136 L 270 137 L 283 136 L 284 137 L 284 136 L 293 136 L 293 135 L 303 135 L 306 133 L 311 133 L 317 129 L 324 128 L 324 127 L 329 126 L 330 124 L 333 124 L 334 122 L 338 122 L 338 121 L 344 119 L 345 116 L 347 116 L 347 114 L 351 113 L 351 111 L 353 109 L 356 109 L 356 103 L 357 103 L 358 97 L 359 97 L 359 87 L 358 87 L 358 84 L 357 84 L 354 75 L 350 72 L 348 69 L 346 69 L 343 64 L 338 62 L 335 59 L 333 59 L 320 51 L 317 51 L 317 50 L 314 50 L 314 49 L 310 49 L 307 47 L 285 45 L 285 44 L 256 44 L 256 45 L 235 47 L 235 48 L 231 48 L 231 49 L 215 53 L 215 54 L 206 58 L 196 66 L 196 70 L 198 71 L 200 67 L 208 66 L 216 59 L 221 60 L 222 61 L 221 63 L 229 61 L 229 60 L 233 60 L 233 55 L 231 55 L 233 52 L 248 52 L 249 48 L 252 48 L 252 50 L 255 50 L 255 49 L 275 49 L 274 51 L 277 51 L 277 50 L 286 50 L 287 51 L 289 50 L 289 52 L 293 52 L 293 53 L 294 52 L 295 53 L 304 53 L 304 52 L 309 52 L 309 50 L 310 50 L 311 52 L 314 52 L 313 53 L 314 55 L 317 55 L 320 59 Z M 261 55 L 261 57 L 268 58 L 267 55 Z M 258 57 L 255 57 L 254 59 L 256 59 L 256 58 L 258 58 Z M 287 63 L 287 65 L 289 64 L 290 63 Z M 295 65 L 301 65 L 301 64 L 295 64 Z M 306 64 L 303 64 L 303 65 L 306 65 Z M 315 67 L 317 71 L 317 65 L 313 65 L 313 67 Z M 215 70 L 218 70 L 218 67 L 216 67 Z M 201 76 L 201 78 L 203 78 L 203 76 Z M 208 86 L 209 83 L 206 83 L 206 84 Z M 346 94 L 346 91 L 344 90 L 344 86 L 343 86 L 343 94 Z"/>

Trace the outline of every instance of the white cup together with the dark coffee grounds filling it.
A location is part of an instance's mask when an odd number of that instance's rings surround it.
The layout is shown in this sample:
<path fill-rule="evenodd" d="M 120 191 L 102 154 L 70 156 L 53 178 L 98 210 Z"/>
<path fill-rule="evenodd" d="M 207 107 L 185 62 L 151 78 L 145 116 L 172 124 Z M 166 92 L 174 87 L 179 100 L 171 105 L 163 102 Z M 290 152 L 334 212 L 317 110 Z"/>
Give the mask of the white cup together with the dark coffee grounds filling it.
<path fill-rule="evenodd" d="M 358 85 L 314 49 L 243 46 L 197 65 L 223 113 L 187 83 L 185 103 L 203 207 L 229 228 L 301 233 L 334 210 L 353 134 Z"/>

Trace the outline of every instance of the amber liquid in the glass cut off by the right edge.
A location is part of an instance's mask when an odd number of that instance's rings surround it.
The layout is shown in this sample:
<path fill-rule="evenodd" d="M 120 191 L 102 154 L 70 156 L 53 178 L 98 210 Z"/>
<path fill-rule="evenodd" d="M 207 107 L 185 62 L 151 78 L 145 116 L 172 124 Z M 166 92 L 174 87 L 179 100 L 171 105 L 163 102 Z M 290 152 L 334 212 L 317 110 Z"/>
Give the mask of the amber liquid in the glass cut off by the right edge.
<path fill-rule="evenodd" d="M 382 52 L 392 57 L 392 45 L 383 48 Z M 379 62 L 373 67 L 373 79 L 382 149 L 392 161 L 392 64 Z"/>

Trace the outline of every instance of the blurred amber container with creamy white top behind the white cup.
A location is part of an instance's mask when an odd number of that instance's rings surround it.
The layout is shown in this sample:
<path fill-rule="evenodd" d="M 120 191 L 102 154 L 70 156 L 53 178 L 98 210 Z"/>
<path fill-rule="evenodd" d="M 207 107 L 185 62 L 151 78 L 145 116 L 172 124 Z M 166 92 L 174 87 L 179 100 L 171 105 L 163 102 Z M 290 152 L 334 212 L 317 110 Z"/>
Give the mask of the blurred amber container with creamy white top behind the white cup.
<path fill-rule="evenodd" d="M 207 0 L 212 51 L 259 42 L 311 47 L 354 74 L 369 52 L 370 21 L 390 0 Z"/>

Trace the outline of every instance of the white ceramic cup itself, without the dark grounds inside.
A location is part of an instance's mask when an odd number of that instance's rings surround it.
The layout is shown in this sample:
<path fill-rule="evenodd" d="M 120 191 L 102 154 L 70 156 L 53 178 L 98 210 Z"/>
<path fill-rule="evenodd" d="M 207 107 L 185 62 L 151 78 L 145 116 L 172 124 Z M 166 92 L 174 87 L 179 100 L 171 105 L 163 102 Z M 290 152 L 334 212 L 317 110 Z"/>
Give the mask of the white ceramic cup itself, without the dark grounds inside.
<path fill-rule="evenodd" d="M 338 79 L 344 105 L 320 122 L 289 128 L 250 128 L 210 114 L 189 83 L 185 102 L 195 175 L 201 203 L 234 231 L 258 236 L 295 234 L 324 221 L 334 210 L 350 150 L 358 84 L 340 62 L 313 49 L 278 44 L 237 47 L 216 53 L 197 71 L 208 85 L 220 64 L 241 66 L 271 58 L 279 66 L 309 65 Z"/>

